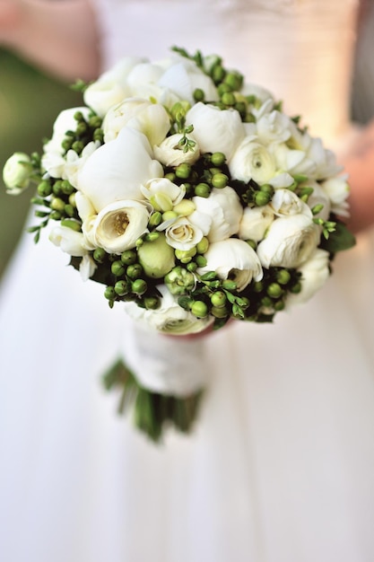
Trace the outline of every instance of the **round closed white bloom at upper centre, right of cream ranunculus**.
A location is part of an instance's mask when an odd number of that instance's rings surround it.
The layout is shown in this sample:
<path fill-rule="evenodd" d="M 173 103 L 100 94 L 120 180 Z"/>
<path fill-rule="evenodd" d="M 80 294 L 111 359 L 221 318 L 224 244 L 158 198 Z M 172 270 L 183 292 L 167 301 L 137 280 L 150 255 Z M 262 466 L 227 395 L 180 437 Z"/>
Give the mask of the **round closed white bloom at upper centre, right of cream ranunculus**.
<path fill-rule="evenodd" d="M 186 116 L 202 153 L 221 152 L 230 160 L 245 136 L 245 127 L 236 110 L 220 110 L 214 105 L 196 103 Z"/>

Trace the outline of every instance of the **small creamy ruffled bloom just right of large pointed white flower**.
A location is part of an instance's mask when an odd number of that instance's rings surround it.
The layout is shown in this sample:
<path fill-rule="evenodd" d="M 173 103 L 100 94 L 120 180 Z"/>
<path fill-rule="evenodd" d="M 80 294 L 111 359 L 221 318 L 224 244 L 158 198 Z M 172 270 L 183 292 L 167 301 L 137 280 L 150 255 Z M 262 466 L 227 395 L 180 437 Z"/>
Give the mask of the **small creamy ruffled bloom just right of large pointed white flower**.
<path fill-rule="evenodd" d="M 156 211 L 171 211 L 184 198 L 186 188 L 184 184 L 178 186 L 167 178 L 155 178 L 144 183 L 141 187 L 144 198 L 150 201 Z"/>

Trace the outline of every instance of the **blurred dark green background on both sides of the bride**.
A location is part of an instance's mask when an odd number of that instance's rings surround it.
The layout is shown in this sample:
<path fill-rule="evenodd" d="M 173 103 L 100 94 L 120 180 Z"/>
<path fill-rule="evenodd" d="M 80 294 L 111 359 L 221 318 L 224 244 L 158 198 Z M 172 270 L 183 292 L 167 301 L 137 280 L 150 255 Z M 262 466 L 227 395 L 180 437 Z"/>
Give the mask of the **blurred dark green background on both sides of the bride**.
<path fill-rule="evenodd" d="M 374 1 L 361 18 L 352 81 L 352 118 L 365 123 L 374 116 Z M 0 170 L 15 151 L 40 152 L 60 110 L 82 104 L 69 84 L 41 74 L 0 48 Z M 0 174 L 0 278 L 18 241 L 32 193 L 5 194 Z"/>

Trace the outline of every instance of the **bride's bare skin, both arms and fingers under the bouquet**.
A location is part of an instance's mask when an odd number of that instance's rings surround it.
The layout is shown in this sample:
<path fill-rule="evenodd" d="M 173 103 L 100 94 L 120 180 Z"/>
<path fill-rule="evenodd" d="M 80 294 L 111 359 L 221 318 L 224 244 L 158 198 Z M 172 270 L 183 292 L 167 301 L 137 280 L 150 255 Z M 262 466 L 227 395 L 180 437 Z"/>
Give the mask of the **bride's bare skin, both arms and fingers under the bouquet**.
<path fill-rule="evenodd" d="M 0 45 L 69 83 L 100 73 L 99 33 L 89 0 L 0 0 Z M 374 224 L 374 120 L 341 163 L 351 186 L 348 226 L 359 233 Z"/>

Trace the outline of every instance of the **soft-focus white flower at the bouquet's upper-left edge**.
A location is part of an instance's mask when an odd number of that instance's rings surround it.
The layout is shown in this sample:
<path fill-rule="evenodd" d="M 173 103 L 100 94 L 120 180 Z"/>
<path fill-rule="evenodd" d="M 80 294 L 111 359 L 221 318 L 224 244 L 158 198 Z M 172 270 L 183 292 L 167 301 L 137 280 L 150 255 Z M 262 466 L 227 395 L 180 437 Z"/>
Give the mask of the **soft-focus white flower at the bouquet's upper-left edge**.
<path fill-rule="evenodd" d="M 83 93 L 84 103 L 100 117 L 104 117 L 112 105 L 129 98 L 131 90 L 126 83 L 127 76 L 138 64 L 144 62 L 140 57 L 125 57 L 117 65 L 100 75 Z"/>

